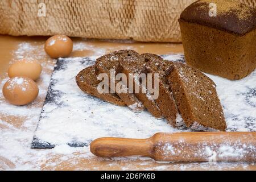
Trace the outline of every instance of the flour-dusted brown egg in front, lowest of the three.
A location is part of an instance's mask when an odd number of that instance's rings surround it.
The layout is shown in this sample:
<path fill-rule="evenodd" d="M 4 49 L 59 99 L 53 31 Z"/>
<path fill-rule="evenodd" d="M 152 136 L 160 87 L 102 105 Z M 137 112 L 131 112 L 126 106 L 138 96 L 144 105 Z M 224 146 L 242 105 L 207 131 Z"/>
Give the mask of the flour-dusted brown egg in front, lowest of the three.
<path fill-rule="evenodd" d="M 26 105 L 34 101 L 38 92 L 38 85 L 27 77 L 13 77 L 3 85 L 3 96 L 14 105 Z"/>

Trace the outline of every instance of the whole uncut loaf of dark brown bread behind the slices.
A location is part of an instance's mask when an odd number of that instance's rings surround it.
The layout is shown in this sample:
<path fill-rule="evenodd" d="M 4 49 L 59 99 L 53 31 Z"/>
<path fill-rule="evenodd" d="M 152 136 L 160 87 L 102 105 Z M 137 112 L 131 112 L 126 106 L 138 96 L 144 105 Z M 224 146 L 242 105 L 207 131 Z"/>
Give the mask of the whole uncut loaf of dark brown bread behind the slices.
<path fill-rule="evenodd" d="M 256 68 L 254 7 L 231 0 L 200 0 L 181 13 L 179 23 L 188 65 L 230 80 Z"/>

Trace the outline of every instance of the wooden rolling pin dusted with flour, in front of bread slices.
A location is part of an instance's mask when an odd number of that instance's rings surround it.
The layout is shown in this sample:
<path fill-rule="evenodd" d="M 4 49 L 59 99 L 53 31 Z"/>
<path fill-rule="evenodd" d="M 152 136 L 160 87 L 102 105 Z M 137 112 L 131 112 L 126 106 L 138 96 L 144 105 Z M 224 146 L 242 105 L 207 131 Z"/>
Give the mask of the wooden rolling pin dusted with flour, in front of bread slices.
<path fill-rule="evenodd" d="M 255 162 L 255 132 L 157 133 L 147 139 L 98 138 L 90 144 L 97 156 L 147 156 L 170 162 Z"/>

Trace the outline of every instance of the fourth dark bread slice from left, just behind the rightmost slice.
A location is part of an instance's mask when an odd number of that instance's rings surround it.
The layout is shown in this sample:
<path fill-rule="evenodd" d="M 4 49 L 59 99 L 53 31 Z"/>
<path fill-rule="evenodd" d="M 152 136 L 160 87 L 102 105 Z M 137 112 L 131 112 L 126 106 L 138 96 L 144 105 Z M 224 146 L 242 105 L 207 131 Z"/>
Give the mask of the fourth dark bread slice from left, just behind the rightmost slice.
<path fill-rule="evenodd" d="M 171 92 L 170 85 L 166 77 L 166 71 L 174 63 L 172 61 L 163 60 L 162 57 L 150 53 L 141 55 L 144 59 L 149 60 L 143 68 L 144 73 L 159 74 L 159 96 L 155 100 L 166 120 L 174 127 L 184 125 L 183 119 L 180 117 L 174 96 Z"/>

